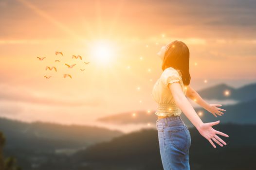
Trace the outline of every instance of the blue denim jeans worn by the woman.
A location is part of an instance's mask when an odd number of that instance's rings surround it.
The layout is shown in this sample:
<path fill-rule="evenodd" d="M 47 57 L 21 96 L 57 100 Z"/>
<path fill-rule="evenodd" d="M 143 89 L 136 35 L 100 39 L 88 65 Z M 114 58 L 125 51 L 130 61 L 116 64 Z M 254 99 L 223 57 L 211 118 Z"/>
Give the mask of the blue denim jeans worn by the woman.
<path fill-rule="evenodd" d="M 164 170 L 190 170 L 191 136 L 181 117 L 158 119 L 156 128 Z"/>

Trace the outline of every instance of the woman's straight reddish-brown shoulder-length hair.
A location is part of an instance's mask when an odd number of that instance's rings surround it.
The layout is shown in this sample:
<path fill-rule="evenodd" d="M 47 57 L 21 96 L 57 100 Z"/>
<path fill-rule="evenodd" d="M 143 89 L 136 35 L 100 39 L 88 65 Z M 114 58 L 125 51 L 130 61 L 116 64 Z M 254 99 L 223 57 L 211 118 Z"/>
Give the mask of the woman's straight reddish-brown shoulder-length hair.
<path fill-rule="evenodd" d="M 175 40 L 166 46 L 162 70 L 175 68 L 182 74 L 183 85 L 190 84 L 189 74 L 189 50 L 185 43 Z"/>

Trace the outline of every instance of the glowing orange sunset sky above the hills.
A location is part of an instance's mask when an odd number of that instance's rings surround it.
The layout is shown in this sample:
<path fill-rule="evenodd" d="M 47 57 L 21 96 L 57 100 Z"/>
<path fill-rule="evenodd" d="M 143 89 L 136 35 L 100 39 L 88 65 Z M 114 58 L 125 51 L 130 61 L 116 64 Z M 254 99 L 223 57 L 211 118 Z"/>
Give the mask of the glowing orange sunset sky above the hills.
<path fill-rule="evenodd" d="M 189 48 L 195 90 L 255 83 L 255 9 L 254 0 L 0 0 L 0 117 L 95 124 L 153 114 L 156 53 L 174 40 Z"/>

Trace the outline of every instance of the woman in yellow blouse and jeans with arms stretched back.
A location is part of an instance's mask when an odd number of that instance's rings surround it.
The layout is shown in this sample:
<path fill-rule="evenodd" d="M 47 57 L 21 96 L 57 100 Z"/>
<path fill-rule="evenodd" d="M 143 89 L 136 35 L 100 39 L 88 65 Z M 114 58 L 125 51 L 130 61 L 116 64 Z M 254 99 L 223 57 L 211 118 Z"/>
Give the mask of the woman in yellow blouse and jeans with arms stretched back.
<path fill-rule="evenodd" d="M 199 105 L 215 117 L 216 114 L 223 115 L 221 111 L 225 110 L 217 107 L 221 104 L 208 104 L 189 86 L 189 50 L 182 41 L 176 40 L 162 47 L 158 55 L 163 60 L 163 73 L 153 86 L 151 95 L 158 103 L 155 114 L 158 116 L 156 128 L 161 160 L 164 170 L 190 170 L 191 136 L 180 117 L 182 112 L 214 148 L 216 146 L 213 141 L 221 147 L 222 143 L 226 145 L 217 134 L 225 137 L 228 135 L 212 128 L 219 120 L 203 123 L 185 96 L 196 99 Z"/>

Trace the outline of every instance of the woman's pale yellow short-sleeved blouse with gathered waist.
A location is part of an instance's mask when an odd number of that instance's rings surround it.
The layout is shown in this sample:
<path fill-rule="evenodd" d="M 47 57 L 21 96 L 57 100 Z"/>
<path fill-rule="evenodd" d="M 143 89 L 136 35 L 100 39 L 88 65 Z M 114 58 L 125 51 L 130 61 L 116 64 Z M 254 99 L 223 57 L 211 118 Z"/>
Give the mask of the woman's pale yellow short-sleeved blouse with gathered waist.
<path fill-rule="evenodd" d="M 175 104 L 171 90 L 168 88 L 168 84 L 174 82 L 180 82 L 185 95 L 187 87 L 183 85 L 181 71 L 172 67 L 166 68 L 153 86 L 151 96 L 158 103 L 155 112 L 157 116 L 181 115 L 182 110 Z"/>

